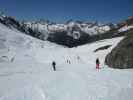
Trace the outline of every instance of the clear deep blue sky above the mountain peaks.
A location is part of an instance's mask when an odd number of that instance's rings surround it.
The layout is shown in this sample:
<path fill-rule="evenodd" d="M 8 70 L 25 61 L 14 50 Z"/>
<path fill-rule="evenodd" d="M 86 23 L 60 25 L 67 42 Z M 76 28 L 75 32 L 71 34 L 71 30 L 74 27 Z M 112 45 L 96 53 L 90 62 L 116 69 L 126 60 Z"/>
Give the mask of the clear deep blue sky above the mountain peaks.
<path fill-rule="evenodd" d="M 133 16 L 133 0 L 0 0 L 0 9 L 19 20 L 118 22 Z"/>

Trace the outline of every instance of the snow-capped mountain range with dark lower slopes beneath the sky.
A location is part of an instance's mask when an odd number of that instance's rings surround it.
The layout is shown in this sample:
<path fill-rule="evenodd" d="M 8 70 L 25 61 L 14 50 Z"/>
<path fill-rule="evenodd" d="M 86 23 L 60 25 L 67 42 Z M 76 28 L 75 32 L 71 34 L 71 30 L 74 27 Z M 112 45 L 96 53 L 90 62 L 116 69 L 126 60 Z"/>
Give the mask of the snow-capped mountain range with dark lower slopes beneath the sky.
<path fill-rule="evenodd" d="M 0 22 L 9 28 L 24 32 L 38 39 L 48 40 L 66 47 L 76 47 L 97 40 L 123 36 L 124 31 L 133 28 L 133 17 L 129 17 L 127 20 L 117 24 L 73 20 L 59 24 L 48 20 L 18 21 L 13 17 L 1 15 Z"/>

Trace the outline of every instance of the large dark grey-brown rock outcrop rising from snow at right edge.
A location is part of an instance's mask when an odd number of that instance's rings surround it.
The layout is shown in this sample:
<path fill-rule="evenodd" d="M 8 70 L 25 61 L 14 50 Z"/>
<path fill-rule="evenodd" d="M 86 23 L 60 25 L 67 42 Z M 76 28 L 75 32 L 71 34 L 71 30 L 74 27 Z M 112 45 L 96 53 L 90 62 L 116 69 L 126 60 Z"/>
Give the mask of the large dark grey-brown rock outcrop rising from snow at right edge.
<path fill-rule="evenodd" d="M 112 68 L 133 68 L 133 30 L 107 55 L 105 63 Z"/>

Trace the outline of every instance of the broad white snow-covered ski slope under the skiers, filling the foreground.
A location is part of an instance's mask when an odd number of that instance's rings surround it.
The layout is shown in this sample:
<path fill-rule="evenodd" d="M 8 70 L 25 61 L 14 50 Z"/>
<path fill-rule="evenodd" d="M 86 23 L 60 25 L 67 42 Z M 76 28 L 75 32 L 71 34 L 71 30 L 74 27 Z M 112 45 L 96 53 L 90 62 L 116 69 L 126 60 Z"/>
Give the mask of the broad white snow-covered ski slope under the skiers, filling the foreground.
<path fill-rule="evenodd" d="M 121 39 L 69 49 L 0 24 L 0 100 L 132 100 L 133 70 L 104 65 L 105 56 Z M 112 46 L 94 52 L 106 45 Z M 95 69 L 97 57 L 99 71 Z"/>

